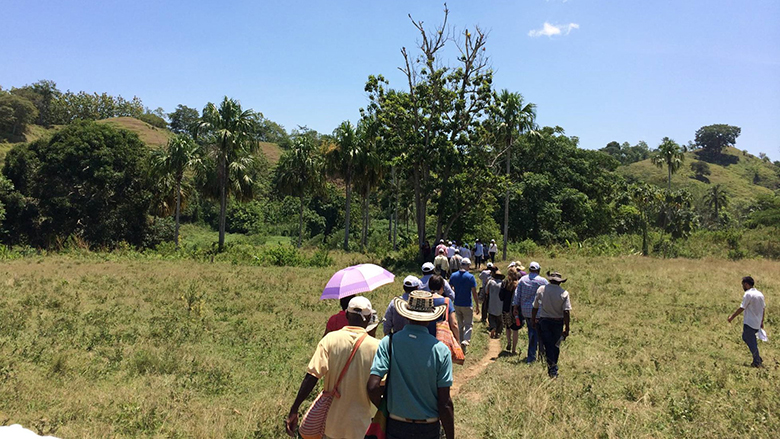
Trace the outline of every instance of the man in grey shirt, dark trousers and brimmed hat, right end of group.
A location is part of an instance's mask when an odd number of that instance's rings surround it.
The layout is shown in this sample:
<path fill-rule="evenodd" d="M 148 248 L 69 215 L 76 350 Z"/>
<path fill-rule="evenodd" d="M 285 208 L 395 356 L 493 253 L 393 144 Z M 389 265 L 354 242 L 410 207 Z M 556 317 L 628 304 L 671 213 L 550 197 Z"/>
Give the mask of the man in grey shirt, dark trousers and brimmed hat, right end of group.
<path fill-rule="evenodd" d="M 550 283 L 536 290 L 531 315 L 533 327 L 539 331 L 539 338 L 544 346 L 547 375 L 557 378 L 561 341 L 569 336 L 571 300 L 569 292 L 561 287 L 566 278 L 561 277 L 557 271 L 547 272 L 547 277 Z"/>

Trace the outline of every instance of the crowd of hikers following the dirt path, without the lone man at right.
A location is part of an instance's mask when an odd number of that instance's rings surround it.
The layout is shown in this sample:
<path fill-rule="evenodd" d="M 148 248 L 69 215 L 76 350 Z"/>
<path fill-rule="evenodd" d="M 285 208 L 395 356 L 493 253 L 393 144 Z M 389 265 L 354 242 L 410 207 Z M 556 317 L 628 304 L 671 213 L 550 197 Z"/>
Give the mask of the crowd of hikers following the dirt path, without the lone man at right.
<path fill-rule="evenodd" d="M 479 273 L 478 294 L 470 268 L 470 258 L 460 258 L 447 280 L 434 263 L 424 263 L 422 277 L 404 279 L 403 294 L 390 301 L 382 319 L 364 296 L 340 299 L 342 310 L 328 320 L 285 419 L 287 433 L 295 436 L 300 405 L 322 379 L 323 388 L 330 390 L 318 400 L 337 397 L 324 415 L 320 434 L 307 435 L 301 426 L 305 439 L 376 437 L 367 434 L 372 419 L 381 418 L 376 407 L 387 412 L 387 438 L 432 439 L 442 430 L 454 438 L 452 364 L 462 364 L 480 304 L 487 310 L 482 320 L 491 337 L 506 330 L 506 350 L 515 354 L 518 330 L 527 326 L 526 362 L 533 363 L 542 349 L 548 374 L 557 377 L 560 341 L 569 334 L 571 302 L 561 287 L 566 279 L 557 272 L 545 279 L 537 262 L 529 265 L 528 273 L 520 262 L 511 262 L 506 274 L 488 262 Z M 385 334 L 381 341 L 375 338 L 380 324 Z M 310 408 L 307 417 L 314 416 Z"/>

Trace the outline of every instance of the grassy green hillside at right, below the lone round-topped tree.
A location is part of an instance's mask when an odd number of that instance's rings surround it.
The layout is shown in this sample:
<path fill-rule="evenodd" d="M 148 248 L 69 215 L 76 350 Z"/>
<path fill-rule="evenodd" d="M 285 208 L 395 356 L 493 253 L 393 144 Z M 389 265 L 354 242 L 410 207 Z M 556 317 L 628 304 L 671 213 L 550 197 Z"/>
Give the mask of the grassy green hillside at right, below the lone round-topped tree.
<path fill-rule="evenodd" d="M 694 194 L 703 193 L 714 184 L 722 185 L 735 199 L 752 199 L 759 194 L 771 194 L 780 189 L 780 174 L 771 162 L 744 153 L 736 148 L 725 148 L 717 163 L 703 160 L 701 151 L 685 153 L 685 163 L 672 175 L 672 188 L 686 188 Z M 691 170 L 691 163 L 704 161 L 710 175 L 697 179 Z M 618 171 L 628 179 L 646 181 L 666 186 L 666 167 L 658 168 L 649 159 L 621 166 Z"/>

